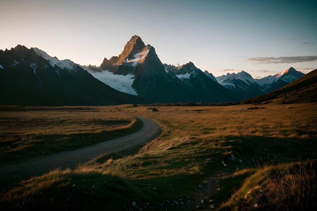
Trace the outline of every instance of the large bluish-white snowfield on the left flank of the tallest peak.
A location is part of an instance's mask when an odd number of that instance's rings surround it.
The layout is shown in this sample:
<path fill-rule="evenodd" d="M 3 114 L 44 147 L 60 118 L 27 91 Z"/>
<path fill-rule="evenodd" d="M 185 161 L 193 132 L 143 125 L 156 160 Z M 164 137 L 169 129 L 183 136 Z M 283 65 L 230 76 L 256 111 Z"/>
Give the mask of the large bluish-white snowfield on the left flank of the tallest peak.
<path fill-rule="evenodd" d="M 117 75 L 108 70 L 96 72 L 91 70 L 89 67 L 83 68 L 86 69 L 95 78 L 117 91 L 124 92 L 130 95 L 138 95 L 137 92 L 132 88 L 132 84 L 135 78 L 135 75 L 133 74 Z"/>

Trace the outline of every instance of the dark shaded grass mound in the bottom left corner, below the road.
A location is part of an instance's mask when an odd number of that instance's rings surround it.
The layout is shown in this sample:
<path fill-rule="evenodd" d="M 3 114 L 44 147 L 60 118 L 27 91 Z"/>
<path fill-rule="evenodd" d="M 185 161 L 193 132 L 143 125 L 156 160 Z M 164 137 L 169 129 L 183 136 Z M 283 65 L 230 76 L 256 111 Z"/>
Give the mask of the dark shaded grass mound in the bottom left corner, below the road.
<path fill-rule="evenodd" d="M 0 206 L 3 210 L 123 210 L 123 204 L 139 204 L 142 197 L 136 186 L 120 177 L 55 170 L 11 189 Z"/>

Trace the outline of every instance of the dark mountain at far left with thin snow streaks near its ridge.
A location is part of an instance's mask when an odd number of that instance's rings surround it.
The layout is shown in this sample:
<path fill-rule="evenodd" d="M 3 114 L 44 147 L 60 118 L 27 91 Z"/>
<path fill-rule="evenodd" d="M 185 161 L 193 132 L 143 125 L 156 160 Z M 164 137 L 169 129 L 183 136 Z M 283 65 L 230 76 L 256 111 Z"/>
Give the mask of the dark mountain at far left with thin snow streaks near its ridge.
<path fill-rule="evenodd" d="M 20 45 L 0 50 L 0 94 L 0 104 L 9 105 L 148 103 L 110 88 L 70 60 Z"/>

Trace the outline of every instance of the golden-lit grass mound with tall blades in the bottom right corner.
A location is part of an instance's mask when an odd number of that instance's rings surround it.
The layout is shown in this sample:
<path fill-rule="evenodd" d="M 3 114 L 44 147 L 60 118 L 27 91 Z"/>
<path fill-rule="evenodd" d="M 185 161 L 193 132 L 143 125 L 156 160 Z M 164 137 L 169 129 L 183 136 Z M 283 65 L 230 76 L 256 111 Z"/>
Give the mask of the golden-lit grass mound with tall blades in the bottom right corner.
<path fill-rule="evenodd" d="M 241 188 L 218 210 L 315 210 L 316 165 L 313 160 L 237 171 L 221 183 L 241 181 Z"/>

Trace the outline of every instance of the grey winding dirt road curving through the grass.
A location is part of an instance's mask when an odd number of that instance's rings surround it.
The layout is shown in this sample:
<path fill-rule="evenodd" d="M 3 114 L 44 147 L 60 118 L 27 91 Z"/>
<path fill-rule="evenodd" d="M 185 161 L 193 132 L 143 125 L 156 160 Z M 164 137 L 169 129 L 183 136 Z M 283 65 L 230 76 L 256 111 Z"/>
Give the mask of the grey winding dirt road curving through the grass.
<path fill-rule="evenodd" d="M 134 134 L 74 151 L 60 152 L 1 166 L 0 187 L 11 186 L 21 179 L 42 175 L 58 167 L 73 168 L 99 155 L 129 149 L 132 146 L 149 142 L 160 133 L 160 125 L 155 121 L 141 116 L 137 116 L 137 118 L 143 122 L 143 126 Z"/>

